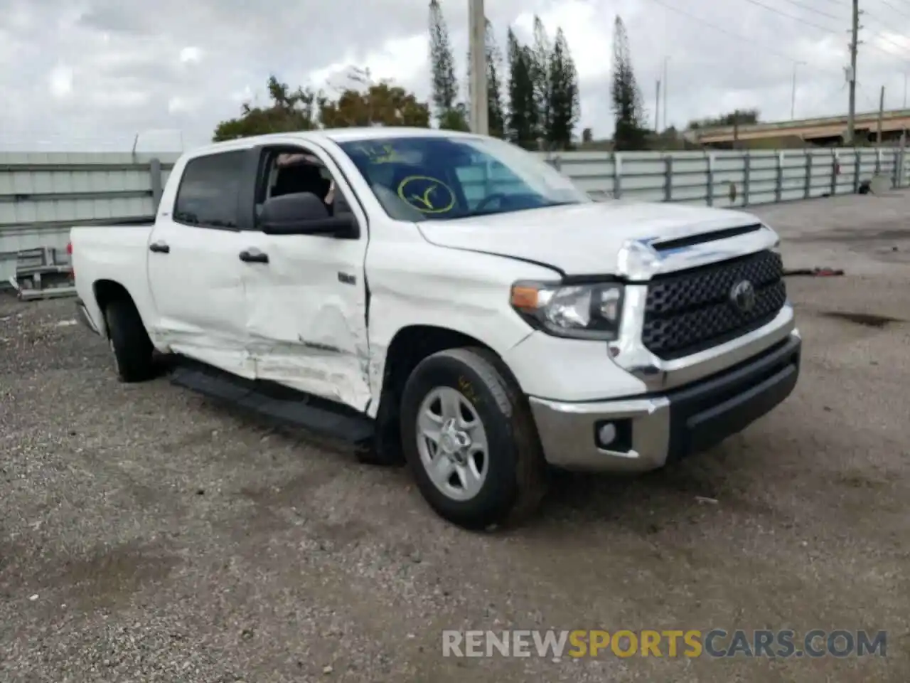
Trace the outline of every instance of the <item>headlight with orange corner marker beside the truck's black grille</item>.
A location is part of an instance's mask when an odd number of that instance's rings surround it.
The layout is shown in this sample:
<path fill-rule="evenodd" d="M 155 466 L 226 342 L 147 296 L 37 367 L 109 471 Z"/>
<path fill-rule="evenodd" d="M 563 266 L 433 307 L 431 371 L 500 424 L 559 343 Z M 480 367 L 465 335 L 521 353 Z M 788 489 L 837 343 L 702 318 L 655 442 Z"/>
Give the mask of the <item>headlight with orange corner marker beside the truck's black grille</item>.
<path fill-rule="evenodd" d="M 533 327 L 549 334 L 611 341 L 619 334 L 622 285 L 516 282 L 511 305 Z"/>

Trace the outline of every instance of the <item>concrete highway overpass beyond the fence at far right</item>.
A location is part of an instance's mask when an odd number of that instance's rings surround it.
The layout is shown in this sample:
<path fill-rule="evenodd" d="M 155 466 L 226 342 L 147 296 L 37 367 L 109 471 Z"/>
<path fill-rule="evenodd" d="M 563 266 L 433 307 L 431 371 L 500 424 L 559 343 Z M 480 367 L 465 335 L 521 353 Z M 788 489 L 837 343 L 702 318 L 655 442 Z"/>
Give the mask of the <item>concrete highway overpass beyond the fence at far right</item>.
<path fill-rule="evenodd" d="M 856 138 L 875 140 L 878 112 L 856 115 Z M 847 129 L 846 115 L 824 118 L 804 118 L 796 121 L 756 123 L 739 127 L 723 126 L 687 130 L 686 138 L 711 147 L 732 147 L 735 141 L 776 138 L 802 138 L 816 145 L 842 144 Z M 882 138 L 895 140 L 910 129 L 910 109 L 885 111 L 882 117 Z"/>

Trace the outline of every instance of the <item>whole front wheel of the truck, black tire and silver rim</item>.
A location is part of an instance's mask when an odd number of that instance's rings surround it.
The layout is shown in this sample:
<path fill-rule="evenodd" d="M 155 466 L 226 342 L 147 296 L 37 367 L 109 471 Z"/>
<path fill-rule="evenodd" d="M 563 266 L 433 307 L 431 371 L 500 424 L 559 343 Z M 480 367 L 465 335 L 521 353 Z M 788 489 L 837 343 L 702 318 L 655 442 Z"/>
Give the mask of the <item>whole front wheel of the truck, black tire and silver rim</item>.
<path fill-rule="evenodd" d="M 538 506 L 545 466 L 527 400 L 484 349 L 424 359 L 401 400 L 401 442 L 420 492 L 453 524 L 516 523 Z"/>

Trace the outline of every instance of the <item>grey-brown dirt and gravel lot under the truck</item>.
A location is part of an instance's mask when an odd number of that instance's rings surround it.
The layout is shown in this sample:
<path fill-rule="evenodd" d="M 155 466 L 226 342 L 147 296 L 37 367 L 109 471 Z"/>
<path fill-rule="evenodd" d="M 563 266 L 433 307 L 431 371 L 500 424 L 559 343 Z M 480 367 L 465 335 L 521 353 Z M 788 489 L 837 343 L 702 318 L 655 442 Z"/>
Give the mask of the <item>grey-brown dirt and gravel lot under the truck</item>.
<path fill-rule="evenodd" d="M 446 525 L 404 471 L 165 379 L 119 384 L 72 301 L 0 296 L 0 680 L 910 680 L 910 325 L 832 312 L 910 319 L 910 198 L 757 212 L 788 265 L 848 269 L 790 280 L 794 395 L 661 473 L 561 476 L 502 535 Z M 886 658 L 441 657 L 442 629 L 508 627 L 888 640 Z"/>

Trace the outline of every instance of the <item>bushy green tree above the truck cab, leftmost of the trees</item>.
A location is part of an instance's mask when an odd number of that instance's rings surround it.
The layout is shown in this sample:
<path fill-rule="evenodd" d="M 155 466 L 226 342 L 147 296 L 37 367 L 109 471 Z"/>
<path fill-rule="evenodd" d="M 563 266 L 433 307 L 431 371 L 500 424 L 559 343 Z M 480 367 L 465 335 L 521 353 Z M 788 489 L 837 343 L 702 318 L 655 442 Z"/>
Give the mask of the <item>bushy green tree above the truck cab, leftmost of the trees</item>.
<path fill-rule="evenodd" d="M 302 87 L 292 91 L 276 76 L 268 76 L 268 97 L 268 107 L 253 107 L 247 102 L 241 106 L 239 117 L 221 121 L 212 141 L 319 127 L 319 110 L 326 101 L 321 93 Z"/>

